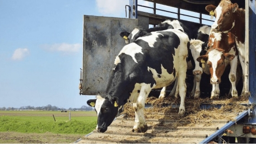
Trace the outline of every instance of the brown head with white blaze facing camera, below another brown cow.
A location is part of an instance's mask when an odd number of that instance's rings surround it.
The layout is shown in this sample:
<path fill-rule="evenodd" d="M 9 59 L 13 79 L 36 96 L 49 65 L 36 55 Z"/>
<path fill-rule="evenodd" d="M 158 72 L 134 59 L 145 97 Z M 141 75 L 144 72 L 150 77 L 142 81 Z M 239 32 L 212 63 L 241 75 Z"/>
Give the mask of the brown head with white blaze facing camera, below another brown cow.
<path fill-rule="evenodd" d="M 207 63 L 211 73 L 211 84 L 219 84 L 226 67 L 225 60 L 230 61 L 234 58 L 234 54 L 224 53 L 220 48 L 213 48 L 209 49 L 205 55 L 198 57 L 197 61 Z"/>

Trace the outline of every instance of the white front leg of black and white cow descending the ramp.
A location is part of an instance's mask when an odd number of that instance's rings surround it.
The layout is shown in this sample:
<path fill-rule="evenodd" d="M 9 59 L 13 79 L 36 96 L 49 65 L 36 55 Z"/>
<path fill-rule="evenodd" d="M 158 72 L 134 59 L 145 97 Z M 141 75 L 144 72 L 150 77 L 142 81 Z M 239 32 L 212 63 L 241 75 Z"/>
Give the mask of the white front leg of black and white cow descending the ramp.
<path fill-rule="evenodd" d="M 133 132 L 144 133 L 148 130 L 146 119 L 144 117 L 144 107 L 146 98 L 151 91 L 150 84 L 144 84 L 141 86 L 137 103 L 133 103 L 133 110 L 135 111 L 135 121 L 133 126 Z"/>

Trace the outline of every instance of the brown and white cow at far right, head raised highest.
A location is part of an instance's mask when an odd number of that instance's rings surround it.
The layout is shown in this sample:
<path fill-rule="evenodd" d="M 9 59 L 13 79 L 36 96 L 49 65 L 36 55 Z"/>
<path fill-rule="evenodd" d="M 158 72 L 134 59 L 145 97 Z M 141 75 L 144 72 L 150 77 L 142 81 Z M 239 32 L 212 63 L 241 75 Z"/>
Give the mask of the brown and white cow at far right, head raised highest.
<path fill-rule="evenodd" d="M 238 4 L 231 3 L 230 0 L 221 0 L 219 5 L 207 5 L 205 9 L 214 11 L 216 17 L 213 25 L 213 32 L 231 32 L 235 36 L 235 43 L 238 49 L 239 60 L 243 70 L 243 80 L 245 75 L 245 10 L 239 8 Z M 245 93 L 243 86 L 242 94 Z"/>

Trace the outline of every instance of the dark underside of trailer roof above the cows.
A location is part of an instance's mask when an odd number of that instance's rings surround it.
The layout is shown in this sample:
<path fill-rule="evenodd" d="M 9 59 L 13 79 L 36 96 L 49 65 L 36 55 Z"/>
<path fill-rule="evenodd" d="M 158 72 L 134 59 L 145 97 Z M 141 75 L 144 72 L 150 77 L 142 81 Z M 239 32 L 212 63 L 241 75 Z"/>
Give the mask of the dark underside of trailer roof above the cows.
<path fill-rule="evenodd" d="M 206 5 L 219 5 L 220 0 L 146 0 L 162 5 L 173 6 L 184 10 L 195 11 L 203 14 L 208 14 L 205 10 Z M 240 8 L 245 8 L 245 0 L 230 0 L 232 3 L 237 3 Z"/>

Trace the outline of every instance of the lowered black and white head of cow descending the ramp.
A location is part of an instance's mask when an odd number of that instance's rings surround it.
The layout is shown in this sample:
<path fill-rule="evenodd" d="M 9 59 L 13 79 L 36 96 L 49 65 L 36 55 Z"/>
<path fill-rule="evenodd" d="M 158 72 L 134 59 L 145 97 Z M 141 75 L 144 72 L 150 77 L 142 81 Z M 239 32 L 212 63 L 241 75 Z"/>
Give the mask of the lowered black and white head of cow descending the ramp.
<path fill-rule="evenodd" d="M 91 107 L 95 107 L 95 111 L 98 115 L 96 130 L 104 133 L 117 116 L 118 98 L 104 95 L 97 95 L 96 98 L 97 99 L 88 100 L 87 104 Z"/>

